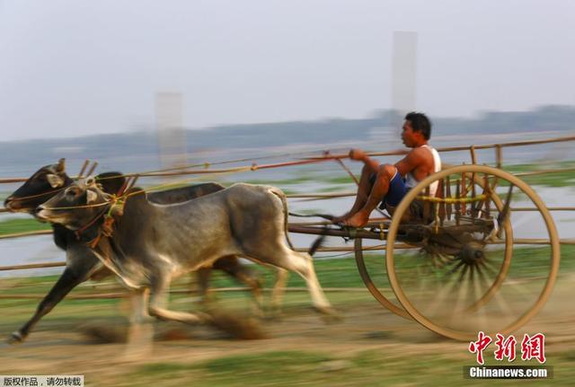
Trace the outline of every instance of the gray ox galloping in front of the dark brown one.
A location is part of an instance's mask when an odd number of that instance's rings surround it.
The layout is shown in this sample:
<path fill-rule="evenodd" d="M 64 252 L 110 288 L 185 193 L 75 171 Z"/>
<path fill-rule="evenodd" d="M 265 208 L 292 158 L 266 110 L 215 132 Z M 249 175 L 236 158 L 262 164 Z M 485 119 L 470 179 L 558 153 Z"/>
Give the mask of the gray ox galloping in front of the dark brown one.
<path fill-rule="evenodd" d="M 305 279 L 314 307 L 332 314 L 311 256 L 291 248 L 286 197 L 280 189 L 239 183 L 171 205 L 151 203 L 144 191 L 132 189 L 120 210 L 110 198 L 93 179 L 79 181 L 38 207 L 36 216 L 86 233 L 94 253 L 125 286 L 140 290 L 142 300 L 149 289 L 150 315 L 208 321 L 201 314 L 167 309 L 170 283 L 184 272 L 236 255 L 295 271 Z M 104 214 L 116 214 L 111 235 L 109 227 L 105 232 Z"/>

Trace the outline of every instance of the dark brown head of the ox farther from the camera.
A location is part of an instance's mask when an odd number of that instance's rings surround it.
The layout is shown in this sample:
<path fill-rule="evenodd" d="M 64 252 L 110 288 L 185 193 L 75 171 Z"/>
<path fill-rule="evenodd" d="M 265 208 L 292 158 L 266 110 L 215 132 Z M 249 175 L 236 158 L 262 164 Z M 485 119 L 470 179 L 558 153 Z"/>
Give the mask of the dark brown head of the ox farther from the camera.
<path fill-rule="evenodd" d="M 34 172 L 30 179 L 6 198 L 4 207 L 12 212 L 31 213 L 71 182 L 66 175 L 65 159 L 60 159 L 58 163 L 43 166 Z"/>

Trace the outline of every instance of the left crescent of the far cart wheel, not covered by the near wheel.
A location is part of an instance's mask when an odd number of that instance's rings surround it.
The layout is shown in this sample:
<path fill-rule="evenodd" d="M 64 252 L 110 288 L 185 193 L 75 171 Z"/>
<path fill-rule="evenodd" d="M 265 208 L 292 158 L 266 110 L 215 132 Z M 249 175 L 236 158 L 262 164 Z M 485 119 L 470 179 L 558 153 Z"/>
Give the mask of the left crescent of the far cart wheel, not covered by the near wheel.
<path fill-rule="evenodd" d="M 408 312 L 405 312 L 405 310 L 402 308 L 401 305 L 397 305 L 395 303 L 392 303 L 380 291 L 380 288 L 382 288 L 383 286 L 385 286 L 385 287 L 389 286 L 389 282 L 387 281 L 387 277 L 385 276 L 385 272 L 384 272 L 385 260 L 381 259 L 381 258 L 378 259 L 379 260 L 378 262 L 374 262 L 375 263 L 374 266 L 376 266 L 376 268 L 371 268 L 372 265 L 367 265 L 366 260 L 364 259 L 363 245 L 361 242 L 361 238 L 355 239 L 354 248 L 355 248 L 356 264 L 358 265 L 359 276 L 361 276 L 363 283 L 366 284 L 366 287 L 367 287 L 367 290 L 369 290 L 369 293 L 371 293 L 371 295 L 373 295 L 379 303 L 384 305 L 385 308 L 387 308 L 391 312 L 394 312 L 398 316 L 402 316 L 406 319 L 411 320 L 410 314 Z M 369 266 L 369 269 L 368 269 L 368 266 Z M 374 280 L 372 279 L 372 277 L 369 275 L 370 269 L 372 270 L 372 274 L 374 274 L 377 278 L 376 279 L 377 286 L 376 286 L 376 283 L 374 283 Z M 381 271 L 379 271 L 379 269 L 381 269 Z M 385 281 L 385 284 L 383 283 L 384 281 Z"/>

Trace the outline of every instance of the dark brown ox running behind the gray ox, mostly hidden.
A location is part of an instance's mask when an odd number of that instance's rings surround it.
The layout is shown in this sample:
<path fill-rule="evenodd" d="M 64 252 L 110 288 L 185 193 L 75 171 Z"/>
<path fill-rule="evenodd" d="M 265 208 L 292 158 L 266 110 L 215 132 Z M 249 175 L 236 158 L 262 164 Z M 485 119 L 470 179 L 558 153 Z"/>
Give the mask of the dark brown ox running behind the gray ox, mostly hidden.
<path fill-rule="evenodd" d="M 115 194 L 124 185 L 125 178 L 119 172 L 104 172 L 96 176 L 96 181 L 104 192 Z M 59 191 L 72 184 L 73 180 L 66 174 L 65 160 L 57 164 L 50 164 L 40 168 L 26 180 L 19 189 L 4 201 L 4 207 L 12 212 L 32 213 L 33 210 L 49 198 L 53 198 Z M 168 189 L 161 192 L 150 193 L 149 200 L 158 204 L 183 202 L 199 196 L 208 195 L 222 190 L 224 187 L 217 183 L 205 183 L 195 186 Z M 54 242 L 66 251 L 66 268 L 57 279 L 56 284 L 46 295 L 31 319 L 19 330 L 14 331 L 9 342 L 22 342 L 28 337 L 31 329 L 48 314 L 75 286 L 87 279 L 102 279 L 112 275 L 94 255 L 84 242 L 76 237 L 75 233 L 61 224 L 52 224 Z M 236 257 L 226 257 L 214 262 L 212 268 L 223 270 L 252 289 L 254 299 L 258 305 L 261 303 L 261 284 L 254 275 L 253 270 L 240 263 Z M 211 268 L 198 270 L 198 283 L 200 294 L 204 297 L 208 291 L 208 279 Z M 275 300 L 279 303 L 279 299 Z"/>

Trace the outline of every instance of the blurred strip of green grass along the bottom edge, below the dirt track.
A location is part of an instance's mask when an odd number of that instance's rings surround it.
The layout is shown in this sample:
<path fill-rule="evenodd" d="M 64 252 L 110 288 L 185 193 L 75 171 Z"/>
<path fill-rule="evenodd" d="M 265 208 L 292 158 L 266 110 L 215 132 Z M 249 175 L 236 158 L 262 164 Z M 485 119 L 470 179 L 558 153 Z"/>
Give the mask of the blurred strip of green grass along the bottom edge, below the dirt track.
<path fill-rule="evenodd" d="M 461 356 L 449 354 L 385 354 L 362 351 L 350 356 L 323 352 L 261 352 L 223 356 L 194 364 L 144 365 L 129 375 L 125 385 L 155 386 L 459 386 L 470 385 L 571 385 L 575 375 L 570 353 L 548 356 L 554 378 L 546 381 L 464 380 Z M 468 362 L 468 365 L 472 365 Z M 487 361 L 486 365 L 496 365 Z M 523 364 L 526 365 L 526 364 Z M 531 364 L 533 365 L 533 364 Z M 119 384 L 124 385 L 124 384 Z"/>

